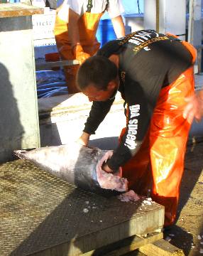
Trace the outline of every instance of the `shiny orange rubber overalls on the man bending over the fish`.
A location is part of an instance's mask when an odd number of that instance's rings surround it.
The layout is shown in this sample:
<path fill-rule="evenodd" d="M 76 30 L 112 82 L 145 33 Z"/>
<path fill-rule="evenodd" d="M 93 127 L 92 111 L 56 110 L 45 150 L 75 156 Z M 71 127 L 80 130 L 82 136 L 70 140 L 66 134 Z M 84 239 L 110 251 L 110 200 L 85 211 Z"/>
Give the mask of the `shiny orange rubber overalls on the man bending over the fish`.
<path fill-rule="evenodd" d="M 192 54 L 196 50 L 189 43 L 183 45 Z M 165 206 L 165 226 L 175 222 L 180 182 L 184 170 L 184 159 L 190 124 L 182 117 L 185 97 L 194 93 L 193 67 L 188 68 L 177 80 L 160 90 L 150 121 L 148 133 L 141 149 L 123 168 L 129 187 L 138 194 L 148 195 L 153 201 Z M 121 137 L 126 128 L 121 131 Z M 121 138 L 120 137 L 120 138 Z"/>

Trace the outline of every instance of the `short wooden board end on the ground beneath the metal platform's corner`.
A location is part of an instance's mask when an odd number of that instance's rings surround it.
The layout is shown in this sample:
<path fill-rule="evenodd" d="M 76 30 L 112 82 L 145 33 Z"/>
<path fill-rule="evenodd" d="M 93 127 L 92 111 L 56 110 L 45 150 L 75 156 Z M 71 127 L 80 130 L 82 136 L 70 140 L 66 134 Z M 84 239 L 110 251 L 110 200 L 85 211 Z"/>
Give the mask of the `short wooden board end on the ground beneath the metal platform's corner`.
<path fill-rule="evenodd" d="M 158 240 L 148 245 L 139 247 L 140 252 L 148 256 L 184 256 L 184 252 L 171 245 L 170 242 L 166 240 Z"/>

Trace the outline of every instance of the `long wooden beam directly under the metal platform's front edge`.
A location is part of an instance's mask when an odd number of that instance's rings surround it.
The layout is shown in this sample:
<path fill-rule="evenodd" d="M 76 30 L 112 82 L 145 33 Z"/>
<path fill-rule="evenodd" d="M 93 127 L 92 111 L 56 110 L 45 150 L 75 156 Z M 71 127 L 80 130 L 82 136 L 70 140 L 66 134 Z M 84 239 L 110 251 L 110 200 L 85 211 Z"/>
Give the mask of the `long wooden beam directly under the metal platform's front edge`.
<path fill-rule="evenodd" d="M 106 247 L 101 247 L 99 250 L 92 250 L 91 252 L 86 252 L 82 256 L 91 255 L 105 255 L 105 256 L 120 256 L 127 252 L 138 249 L 138 247 L 147 245 L 150 242 L 155 242 L 163 238 L 163 233 L 152 233 L 146 238 L 141 238 L 133 235 L 130 238 L 126 238 L 119 242 L 114 242 L 114 244 L 107 245 Z"/>

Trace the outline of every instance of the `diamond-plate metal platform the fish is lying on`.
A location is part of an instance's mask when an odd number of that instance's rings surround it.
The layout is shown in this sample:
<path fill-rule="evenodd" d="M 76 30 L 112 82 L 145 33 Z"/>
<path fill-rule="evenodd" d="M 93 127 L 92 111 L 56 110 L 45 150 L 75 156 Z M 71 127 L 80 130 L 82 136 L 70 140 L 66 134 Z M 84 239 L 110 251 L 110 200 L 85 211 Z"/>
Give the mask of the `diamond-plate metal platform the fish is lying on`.
<path fill-rule="evenodd" d="M 163 228 L 164 208 L 105 198 L 17 160 L 0 166 L 0 217 L 1 256 L 72 256 Z"/>

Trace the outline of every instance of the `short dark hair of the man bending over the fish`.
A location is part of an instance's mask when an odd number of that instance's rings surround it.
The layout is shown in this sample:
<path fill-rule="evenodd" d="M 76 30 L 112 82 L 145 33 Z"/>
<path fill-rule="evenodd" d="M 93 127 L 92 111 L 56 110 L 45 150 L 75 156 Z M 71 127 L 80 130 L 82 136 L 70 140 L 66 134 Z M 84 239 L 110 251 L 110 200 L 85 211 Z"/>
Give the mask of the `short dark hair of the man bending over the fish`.
<path fill-rule="evenodd" d="M 82 63 L 77 71 L 77 87 L 84 90 L 94 85 L 98 90 L 106 90 L 109 82 L 118 75 L 116 65 L 104 56 L 92 56 Z"/>

